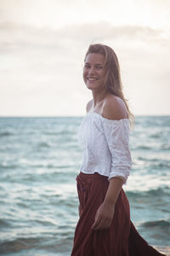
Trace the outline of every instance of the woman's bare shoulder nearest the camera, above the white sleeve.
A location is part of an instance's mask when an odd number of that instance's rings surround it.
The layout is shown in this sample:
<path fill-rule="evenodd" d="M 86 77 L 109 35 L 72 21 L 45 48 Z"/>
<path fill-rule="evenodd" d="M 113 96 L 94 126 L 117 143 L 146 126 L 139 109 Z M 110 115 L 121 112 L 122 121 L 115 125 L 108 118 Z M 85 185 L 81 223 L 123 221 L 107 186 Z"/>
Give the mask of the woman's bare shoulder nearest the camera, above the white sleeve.
<path fill-rule="evenodd" d="M 105 98 L 102 108 L 102 116 L 105 119 L 127 119 L 127 107 L 122 99 L 115 95 L 110 95 Z"/>

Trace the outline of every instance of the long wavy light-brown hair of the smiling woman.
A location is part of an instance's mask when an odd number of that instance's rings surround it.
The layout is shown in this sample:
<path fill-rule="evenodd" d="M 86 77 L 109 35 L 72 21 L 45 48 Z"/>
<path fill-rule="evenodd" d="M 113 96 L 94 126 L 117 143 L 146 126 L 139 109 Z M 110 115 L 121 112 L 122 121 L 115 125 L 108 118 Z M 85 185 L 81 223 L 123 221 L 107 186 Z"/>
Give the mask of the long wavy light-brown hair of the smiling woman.
<path fill-rule="evenodd" d="M 105 87 L 113 95 L 118 96 L 122 99 L 127 107 L 127 115 L 130 121 L 130 125 L 134 124 L 134 115 L 130 112 L 127 99 L 125 99 L 122 92 L 122 79 L 120 73 L 119 61 L 117 59 L 116 53 L 111 47 L 105 44 L 90 44 L 88 51 L 85 55 L 85 60 L 89 54 L 101 54 L 105 56 L 104 68 L 105 68 Z"/>

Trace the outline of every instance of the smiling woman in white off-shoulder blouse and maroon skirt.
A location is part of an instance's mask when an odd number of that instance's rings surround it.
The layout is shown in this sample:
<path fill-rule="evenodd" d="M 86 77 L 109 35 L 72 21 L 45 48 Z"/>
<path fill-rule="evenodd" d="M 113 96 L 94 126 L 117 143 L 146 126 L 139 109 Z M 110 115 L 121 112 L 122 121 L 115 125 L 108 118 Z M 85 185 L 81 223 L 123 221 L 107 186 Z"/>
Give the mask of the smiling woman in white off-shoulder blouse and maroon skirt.
<path fill-rule="evenodd" d="M 128 145 L 133 114 L 122 93 L 115 52 L 92 44 L 83 79 L 93 100 L 79 129 L 82 166 L 77 176 L 79 221 L 71 256 L 163 255 L 139 236 L 122 189 L 132 166 Z"/>

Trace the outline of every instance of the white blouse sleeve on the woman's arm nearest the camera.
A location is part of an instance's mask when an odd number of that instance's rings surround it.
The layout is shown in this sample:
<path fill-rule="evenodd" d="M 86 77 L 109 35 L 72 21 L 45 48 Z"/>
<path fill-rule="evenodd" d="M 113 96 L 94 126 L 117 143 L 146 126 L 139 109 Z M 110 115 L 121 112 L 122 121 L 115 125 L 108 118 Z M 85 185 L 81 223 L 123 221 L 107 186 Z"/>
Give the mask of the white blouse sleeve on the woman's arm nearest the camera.
<path fill-rule="evenodd" d="M 131 153 L 129 149 L 129 120 L 103 121 L 105 139 L 111 151 L 111 177 L 121 177 L 126 184 L 127 177 L 132 167 Z"/>

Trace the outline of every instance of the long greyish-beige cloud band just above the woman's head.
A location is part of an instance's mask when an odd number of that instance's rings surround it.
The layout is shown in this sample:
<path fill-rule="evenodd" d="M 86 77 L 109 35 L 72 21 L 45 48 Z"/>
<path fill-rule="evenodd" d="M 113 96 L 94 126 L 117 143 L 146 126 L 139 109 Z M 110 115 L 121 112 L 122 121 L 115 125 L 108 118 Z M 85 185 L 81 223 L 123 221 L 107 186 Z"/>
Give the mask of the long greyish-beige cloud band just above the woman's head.
<path fill-rule="evenodd" d="M 104 40 L 129 40 L 155 42 L 161 44 L 163 30 L 153 29 L 149 26 L 112 26 L 110 23 L 100 21 L 92 24 L 83 24 L 77 26 L 65 26 L 62 29 L 36 28 L 33 26 L 17 26 L 14 23 L 4 22 L 0 24 L 1 44 L 16 44 L 20 46 L 29 44 L 47 47 L 69 45 L 68 42 L 77 44 L 91 43 Z M 169 41 L 167 42 L 169 43 Z"/>

